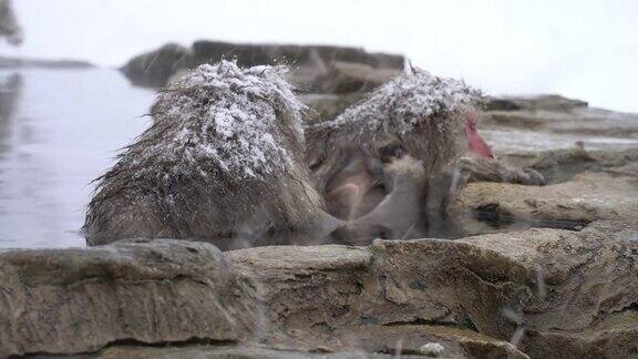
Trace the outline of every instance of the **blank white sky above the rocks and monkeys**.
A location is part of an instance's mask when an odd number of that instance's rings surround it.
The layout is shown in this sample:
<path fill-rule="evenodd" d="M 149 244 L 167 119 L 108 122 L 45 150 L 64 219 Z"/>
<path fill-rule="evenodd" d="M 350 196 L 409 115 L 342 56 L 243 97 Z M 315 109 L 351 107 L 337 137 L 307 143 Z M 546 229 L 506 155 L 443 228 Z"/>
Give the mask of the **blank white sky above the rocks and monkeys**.
<path fill-rule="evenodd" d="M 120 65 L 165 42 L 321 43 L 403 53 L 491 93 L 638 112 L 638 1 L 14 0 L 0 54 Z"/>

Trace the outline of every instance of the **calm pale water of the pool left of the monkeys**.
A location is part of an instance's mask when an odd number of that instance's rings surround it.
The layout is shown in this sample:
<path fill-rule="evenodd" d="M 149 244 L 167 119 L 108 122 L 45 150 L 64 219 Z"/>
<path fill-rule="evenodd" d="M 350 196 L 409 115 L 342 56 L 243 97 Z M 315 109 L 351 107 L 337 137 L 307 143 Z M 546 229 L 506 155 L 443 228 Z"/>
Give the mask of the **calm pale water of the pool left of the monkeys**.
<path fill-rule="evenodd" d="M 152 100 L 116 70 L 0 71 L 0 248 L 84 246 L 91 181 Z"/>

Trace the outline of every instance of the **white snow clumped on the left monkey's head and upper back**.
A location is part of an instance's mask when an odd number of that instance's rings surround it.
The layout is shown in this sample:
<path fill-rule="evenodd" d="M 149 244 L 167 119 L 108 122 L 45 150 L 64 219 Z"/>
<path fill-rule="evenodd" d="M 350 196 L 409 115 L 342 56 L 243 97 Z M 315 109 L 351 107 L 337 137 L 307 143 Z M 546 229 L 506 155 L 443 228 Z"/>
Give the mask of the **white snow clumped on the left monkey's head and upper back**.
<path fill-rule="evenodd" d="M 240 69 L 229 61 L 199 65 L 158 94 L 152 115 L 172 140 L 145 147 L 142 157 L 178 160 L 183 165 L 173 170 L 182 172 L 210 160 L 240 177 L 284 170 L 291 158 L 272 136 L 279 133 L 278 113 L 291 114 L 295 135 L 302 139 L 305 110 L 285 72 L 284 66 Z"/>

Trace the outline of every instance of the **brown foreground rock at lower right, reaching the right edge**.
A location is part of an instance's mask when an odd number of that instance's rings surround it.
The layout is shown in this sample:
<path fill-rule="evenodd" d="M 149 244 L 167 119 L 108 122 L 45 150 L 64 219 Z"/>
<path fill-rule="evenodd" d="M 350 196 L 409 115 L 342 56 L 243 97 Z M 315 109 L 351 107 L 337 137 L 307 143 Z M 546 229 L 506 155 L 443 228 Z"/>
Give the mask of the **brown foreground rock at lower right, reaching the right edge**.
<path fill-rule="evenodd" d="M 501 339 L 519 331 L 519 348 L 532 358 L 627 358 L 638 350 L 636 238 L 635 220 L 601 222 L 579 233 L 384 242 L 373 250 L 383 258 L 384 297 L 401 299 L 395 318 L 465 317 Z"/>

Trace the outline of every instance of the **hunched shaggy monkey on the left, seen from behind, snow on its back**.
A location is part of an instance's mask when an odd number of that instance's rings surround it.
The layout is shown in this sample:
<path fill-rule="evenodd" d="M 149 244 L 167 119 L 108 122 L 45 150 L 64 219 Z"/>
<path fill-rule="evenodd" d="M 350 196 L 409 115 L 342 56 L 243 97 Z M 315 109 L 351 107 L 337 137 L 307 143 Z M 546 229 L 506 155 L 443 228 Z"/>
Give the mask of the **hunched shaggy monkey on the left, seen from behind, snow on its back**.
<path fill-rule="evenodd" d="M 161 90 L 152 125 L 96 180 L 88 244 L 338 226 L 310 183 L 306 107 L 284 73 L 222 61 Z"/>

